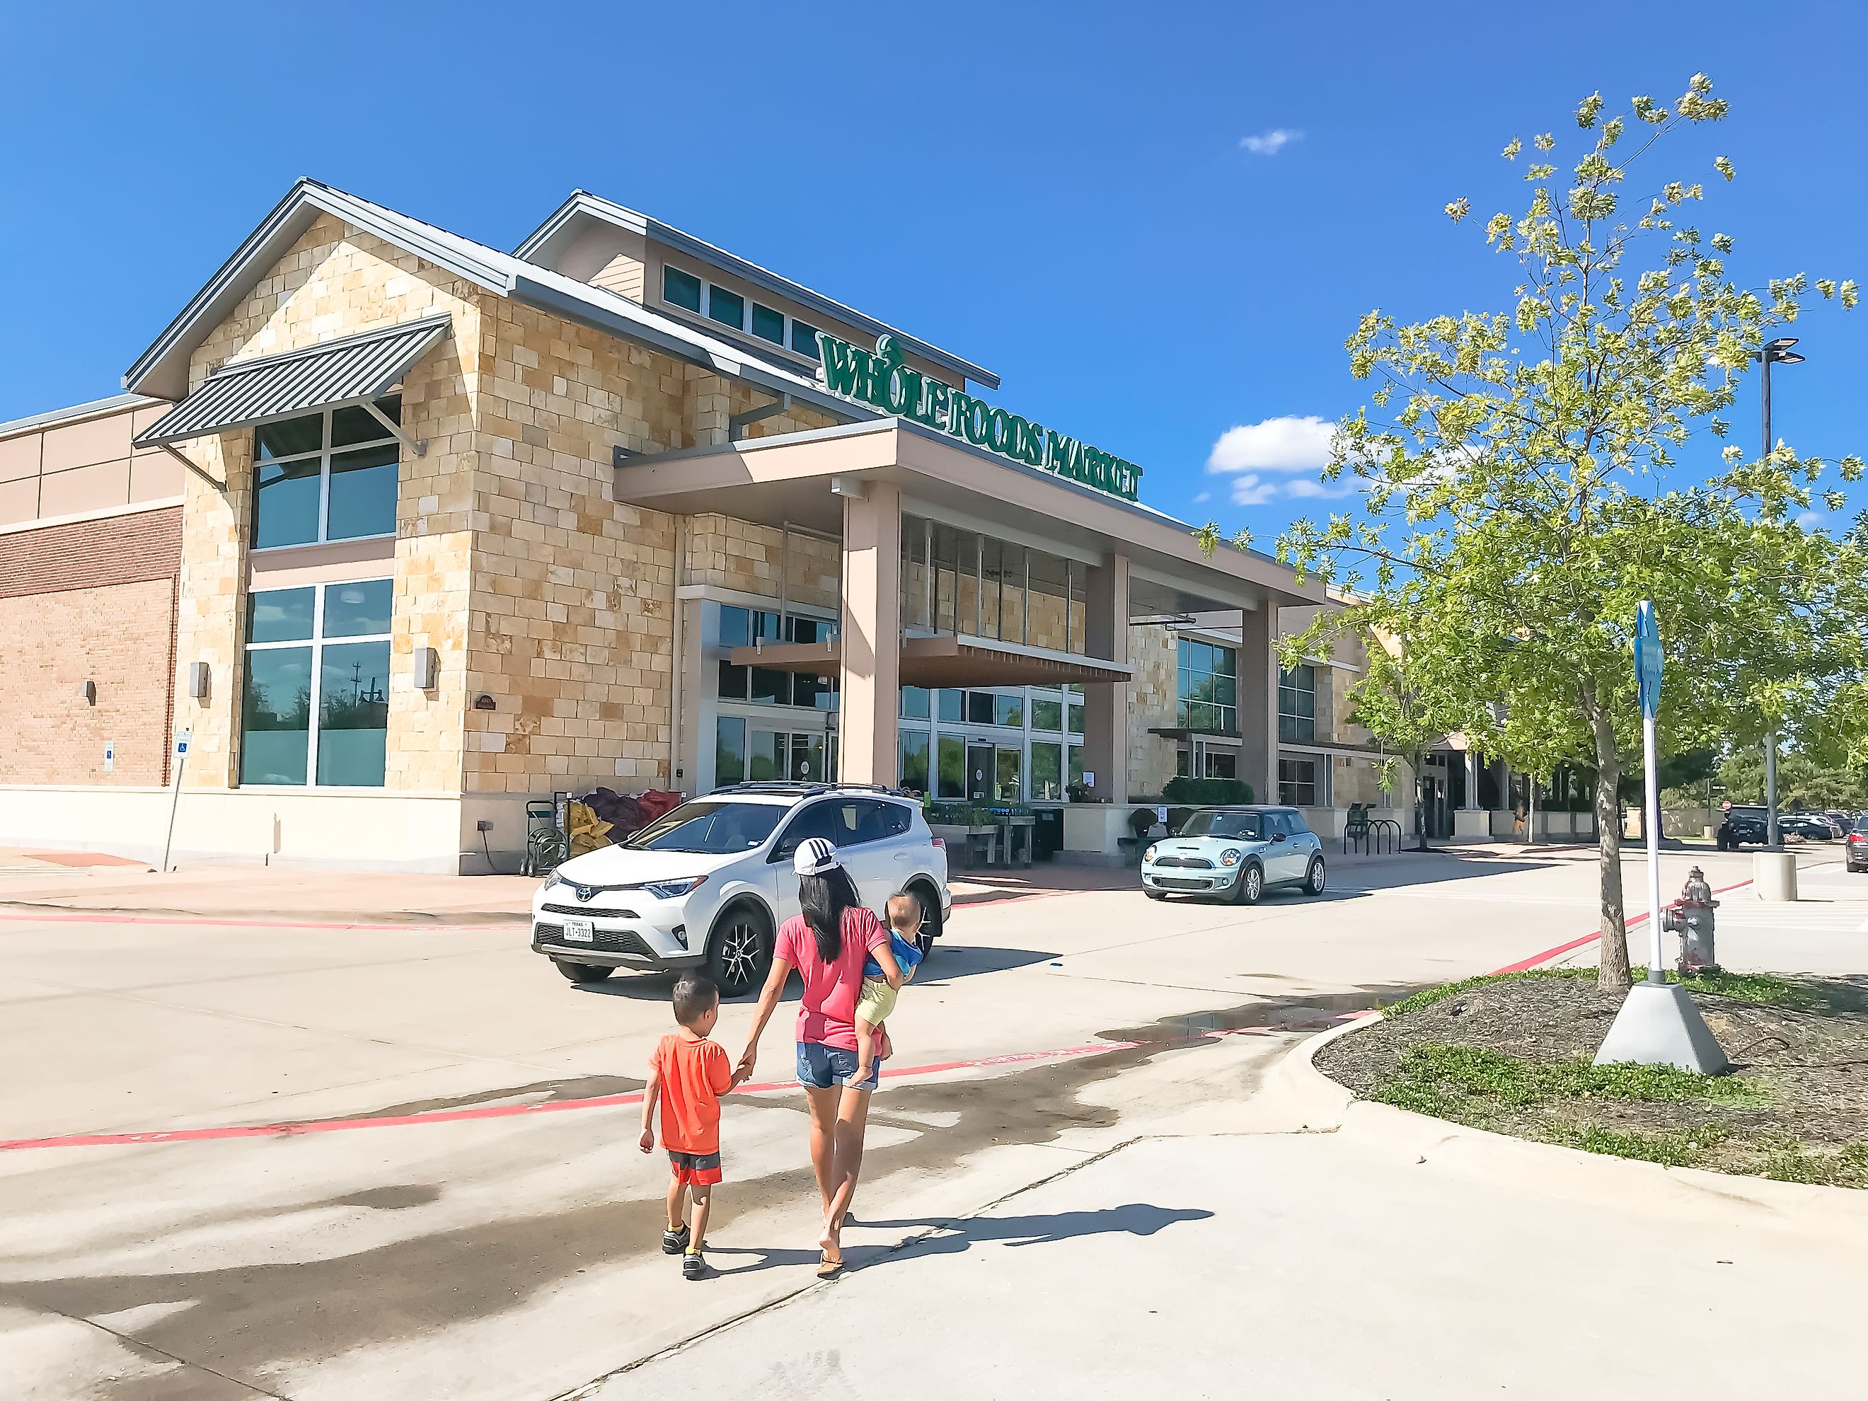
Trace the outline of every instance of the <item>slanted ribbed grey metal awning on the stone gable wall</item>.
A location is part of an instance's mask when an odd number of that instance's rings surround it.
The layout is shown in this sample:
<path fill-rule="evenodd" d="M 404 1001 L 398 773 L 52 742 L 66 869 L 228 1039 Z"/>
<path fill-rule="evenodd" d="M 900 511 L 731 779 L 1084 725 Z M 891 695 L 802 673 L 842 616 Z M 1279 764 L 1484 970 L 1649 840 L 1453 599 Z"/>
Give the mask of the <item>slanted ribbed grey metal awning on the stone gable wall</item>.
<path fill-rule="evenodd" d="M 443 312 L 222 366 L 138 433 L 136 446 L 159 448 L 228 428 L 250 428 L 347 403 L 374 403 L 402 383 L 409 366 L 446 331 L 448 314 Z"/>

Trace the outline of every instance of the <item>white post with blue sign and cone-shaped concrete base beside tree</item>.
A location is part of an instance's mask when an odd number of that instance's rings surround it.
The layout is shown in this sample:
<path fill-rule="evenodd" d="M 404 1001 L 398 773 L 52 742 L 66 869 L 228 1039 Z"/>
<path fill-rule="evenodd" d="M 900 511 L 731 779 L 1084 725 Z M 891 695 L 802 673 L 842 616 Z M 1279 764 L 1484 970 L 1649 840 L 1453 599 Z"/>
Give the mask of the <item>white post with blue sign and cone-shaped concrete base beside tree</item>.
<path fill-rule="evenodd" d="M 1666 981 L 1666 951 L 1661 943 L 1661 766 L 1655 753 L 1653 721 L 1661 712 L 1661 628 L 1653 603 L 1634 609 L 1634 684 L 1640 693 L 1642 757 L 1648 766 L 1648 981 L 1629 988 L 1621 1011 L 1597 1065 L 1674 1065 L 1698 1074 L 1720 1074 L 1730 1067 L 1700 1009 L 1677 983 Z"/>

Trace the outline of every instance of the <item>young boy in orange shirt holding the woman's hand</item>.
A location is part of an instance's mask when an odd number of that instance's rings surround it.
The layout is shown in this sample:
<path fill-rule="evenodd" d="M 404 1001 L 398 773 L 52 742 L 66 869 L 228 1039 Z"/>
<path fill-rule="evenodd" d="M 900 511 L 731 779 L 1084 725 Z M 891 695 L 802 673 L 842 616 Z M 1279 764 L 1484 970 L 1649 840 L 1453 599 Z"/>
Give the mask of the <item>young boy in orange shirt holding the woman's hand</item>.
<path fill-rule="evenodd" d="M 674 1022 L 648 1059 L 643 1091 L 643 1153 L 656 1147 L 654 1113 L 661 1102 L 661 1143 L 669 1151 L 669 1229 L 661 1253 L 682 1257 L 682 1278 L 706 1274 L 706 1218 L 719 1182 L 719 1097 L 734 1085 L 732 1061 L 708 1033 L 719 1020 L 719 988 L 706 973 L 674 983 Z M 687 1197 L 693 1197 L 693 1229 Z"/>

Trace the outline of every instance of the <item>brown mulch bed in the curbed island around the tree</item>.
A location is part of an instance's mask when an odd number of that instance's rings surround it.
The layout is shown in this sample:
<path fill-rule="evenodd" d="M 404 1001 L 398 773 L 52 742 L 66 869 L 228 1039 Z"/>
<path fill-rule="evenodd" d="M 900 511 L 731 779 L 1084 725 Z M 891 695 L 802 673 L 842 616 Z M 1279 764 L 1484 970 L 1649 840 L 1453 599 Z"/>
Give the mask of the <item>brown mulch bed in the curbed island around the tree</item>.
<path fill-rule="evenodd" d="M 1868 1186 L 1868 984 L 1799 981 L 1790 990 L 1795 1005 L 1694 992 L 1732 1074 L 1756 1091 L 1752 1104 L 1558 1095 L 1513 1106 L 1455 1091 L 1440 1111 L 1547 1143 L 1580 1145 L 1584 1130 L 1599 1128 L 1620 1143 L 1601 1151 L 1623 1156 Z M 1410 1046 L 1478 1046 L 1522 1061 L 1588 1059 L 1620 1005 L 1621 994 L 1595 986 L 1593 969 L 1588 979 L 1487 981 L 1339 1037 L 1317 1055 L 1317 1068 L 1358 1097 L 1380 1100 L 1395 1095 Z M 1640 1147 L 1663 1138 L 1670 1154 Z"/>

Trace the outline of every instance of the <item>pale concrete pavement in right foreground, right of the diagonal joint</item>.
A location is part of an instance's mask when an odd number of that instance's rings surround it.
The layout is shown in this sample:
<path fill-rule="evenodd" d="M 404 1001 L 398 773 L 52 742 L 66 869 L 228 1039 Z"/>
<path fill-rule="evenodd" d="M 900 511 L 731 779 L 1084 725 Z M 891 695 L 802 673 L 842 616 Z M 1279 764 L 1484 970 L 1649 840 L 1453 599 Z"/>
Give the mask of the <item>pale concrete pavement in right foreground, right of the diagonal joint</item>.
<path fill-rule="evenodd" d="M 1289 1067 L 975 1216 L 865 1214 L 842 1280 L 570 1395 L 1750 1401 L 1853 1375 L 1868 1194 L 1343 1111 Z"/>

